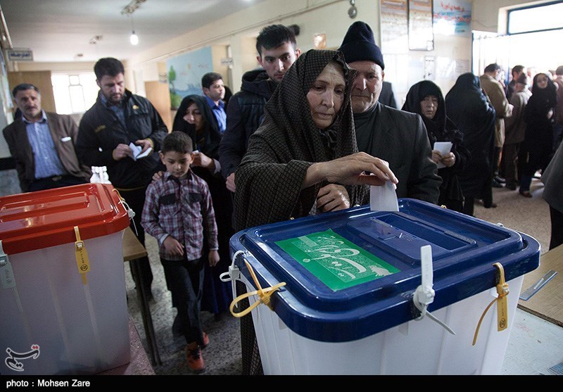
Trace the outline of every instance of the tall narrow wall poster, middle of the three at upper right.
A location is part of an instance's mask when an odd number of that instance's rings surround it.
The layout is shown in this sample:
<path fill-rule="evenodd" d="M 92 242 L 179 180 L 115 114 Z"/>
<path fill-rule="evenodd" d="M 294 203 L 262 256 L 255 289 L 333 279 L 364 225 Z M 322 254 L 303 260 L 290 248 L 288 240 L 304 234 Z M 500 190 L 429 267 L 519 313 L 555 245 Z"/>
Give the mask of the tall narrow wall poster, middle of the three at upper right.
<path fill-rule="evenodd" d="M 411 51 L 434 50 L 432 30 L 432 0 L 409 1 L 409 49 Z"/>

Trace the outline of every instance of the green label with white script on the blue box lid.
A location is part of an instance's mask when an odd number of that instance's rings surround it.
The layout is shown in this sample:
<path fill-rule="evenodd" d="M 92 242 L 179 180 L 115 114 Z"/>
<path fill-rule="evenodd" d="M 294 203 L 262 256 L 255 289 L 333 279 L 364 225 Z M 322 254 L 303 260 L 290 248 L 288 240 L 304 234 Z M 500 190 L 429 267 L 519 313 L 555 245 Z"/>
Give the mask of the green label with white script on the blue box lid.
<path fill-rule="evenodd" d="M 400 271 L 331 229 L 276 244 L 334 291 Z"/>

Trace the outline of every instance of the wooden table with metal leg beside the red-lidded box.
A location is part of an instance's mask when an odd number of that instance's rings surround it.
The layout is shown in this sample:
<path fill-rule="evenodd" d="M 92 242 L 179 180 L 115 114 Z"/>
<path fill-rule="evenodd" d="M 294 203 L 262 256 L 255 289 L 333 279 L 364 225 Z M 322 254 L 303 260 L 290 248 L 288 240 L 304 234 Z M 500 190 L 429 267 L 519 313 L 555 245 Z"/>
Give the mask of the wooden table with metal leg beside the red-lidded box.
<path fill-rule="evenodd" d="M 138 279 L 141 276 L 141 271 L 139 270 L 139 263 L 137 263 L 137 259 L 146 255 L 146 249 L 143 244 L 141 244 L 139 239 L 137 239 L 137 236 L 135 236 L 131 227 L 127 227 L 127 229 L 125 229 L 125 232 L 123 233 L 123 260 L 125 262 L 128 261 L 129 263 L 132 263 L 131 265 L 136 271 L 136 273 L 133 274 L 133 279 L 135 280 L 137 297 L 139 297 L 139 301 L 141 302 L 141 316 L 143 318 L 143 327 L 145 330 L 148 354 L 151 358 L 151 364 L 161 365 L 162 361 L 160 361 L 158 346 L 156 344 L 156 336 L 154 333 L 151 308 L 148 307 L 148 301 L 146 301 L 146 293 L 144 292 L 144 287 L 141 282 L 138 282 Z"/>

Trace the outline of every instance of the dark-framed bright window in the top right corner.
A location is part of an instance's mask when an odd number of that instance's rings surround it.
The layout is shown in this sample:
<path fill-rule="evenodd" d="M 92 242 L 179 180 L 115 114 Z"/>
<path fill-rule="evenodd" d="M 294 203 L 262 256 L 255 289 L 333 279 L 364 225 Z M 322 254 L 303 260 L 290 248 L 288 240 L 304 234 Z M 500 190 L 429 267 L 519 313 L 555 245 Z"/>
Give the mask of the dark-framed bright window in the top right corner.
<path fill-rule="evenodd" d="M 508 34 L 563 28 L 563 1 L 508 11 Z"/>

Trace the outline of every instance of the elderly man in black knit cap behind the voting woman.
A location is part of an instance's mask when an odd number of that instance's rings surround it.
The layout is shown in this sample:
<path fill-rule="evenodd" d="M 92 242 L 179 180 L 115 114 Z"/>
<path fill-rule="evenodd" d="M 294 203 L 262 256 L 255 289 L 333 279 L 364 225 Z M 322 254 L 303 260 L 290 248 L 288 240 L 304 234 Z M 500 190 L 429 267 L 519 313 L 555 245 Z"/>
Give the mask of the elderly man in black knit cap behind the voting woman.
<path fill-rule="evenodd" d="M 442 180 L 422 118 L 378 102 L 385 65 L 371 27 L 360 21 L 350 25 L 339 50 L 358 72 L 352 87 L 358 149 L 389 163 L 399 179 L 398 197 L 437 203 Z"/>

